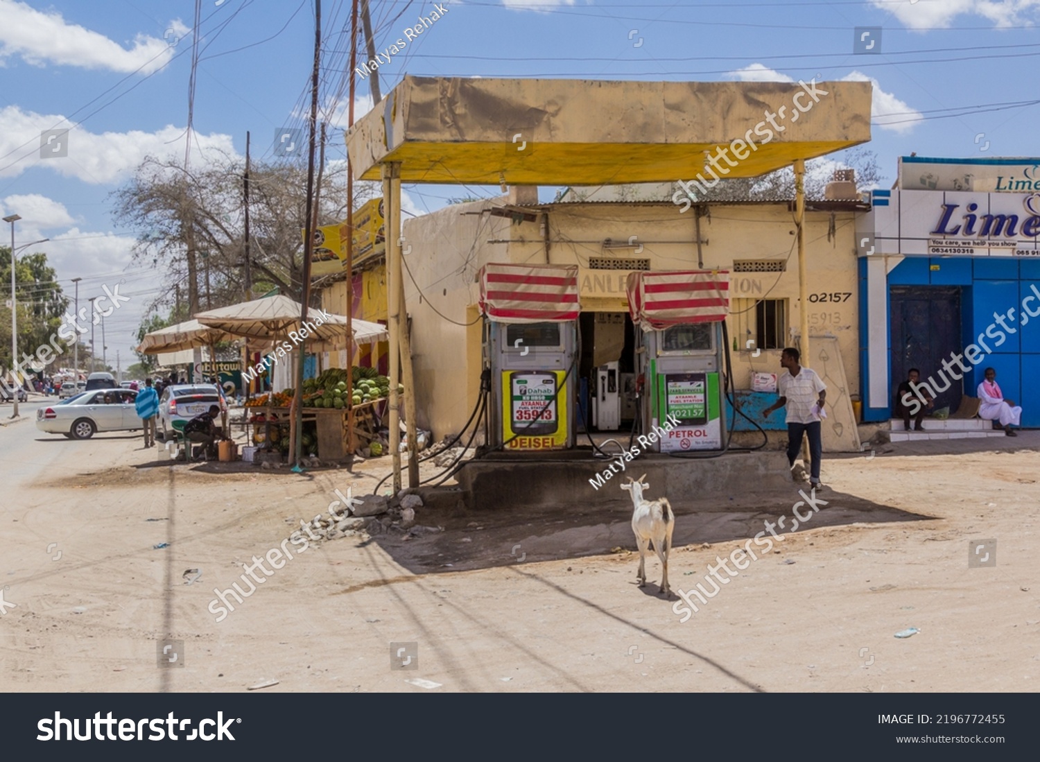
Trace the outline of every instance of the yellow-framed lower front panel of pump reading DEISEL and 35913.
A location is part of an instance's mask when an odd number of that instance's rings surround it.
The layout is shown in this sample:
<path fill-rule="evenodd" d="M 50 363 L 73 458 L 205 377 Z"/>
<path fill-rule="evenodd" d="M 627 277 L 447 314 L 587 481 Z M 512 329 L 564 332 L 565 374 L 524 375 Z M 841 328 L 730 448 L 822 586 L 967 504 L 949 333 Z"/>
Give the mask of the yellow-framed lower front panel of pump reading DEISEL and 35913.
<path fill-rule="evenodd" d="M 502 437 L 506 450 L 549 450 L 567 446 L 564 370 L 502 371 Z M 512 441 L 511 441 L 512 440 Z"/>

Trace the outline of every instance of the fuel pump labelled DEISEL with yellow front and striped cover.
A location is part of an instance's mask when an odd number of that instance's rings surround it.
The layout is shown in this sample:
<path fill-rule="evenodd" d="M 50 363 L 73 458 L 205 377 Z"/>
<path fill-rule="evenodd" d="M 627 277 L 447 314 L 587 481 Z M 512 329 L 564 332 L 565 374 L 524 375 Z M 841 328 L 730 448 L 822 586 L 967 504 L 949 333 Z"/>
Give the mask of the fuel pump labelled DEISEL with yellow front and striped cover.
<path fill-rule="evenodd" d="M 574 446 L 577 267 L 488 264 L 480 269 L 490 443 L 506 451 Z"/>

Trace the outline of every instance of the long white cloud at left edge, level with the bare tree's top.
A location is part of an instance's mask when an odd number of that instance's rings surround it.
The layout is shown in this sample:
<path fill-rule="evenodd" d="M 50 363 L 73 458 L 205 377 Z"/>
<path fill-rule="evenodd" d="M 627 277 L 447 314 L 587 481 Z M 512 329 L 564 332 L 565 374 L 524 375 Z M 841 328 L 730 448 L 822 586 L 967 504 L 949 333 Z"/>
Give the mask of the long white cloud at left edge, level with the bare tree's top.
<path fill-rule="evenodd" d="M 2 0 L 0 0 L 2 1 Z M 55 125 L 68 126 L 60 114 L 38 114 L 18 106 L 0 109 L 0 177 L 17 177 L 30 166 L 50 168 L 64 177 L 85 183 L 108 184 L 129 176 L 146 156 L 165 158 L 184 156 L 184 128 L 167 125 L 155 132 L 93 133 L 73 126 L 61 138 L 68 156 L 43 159 L 40 139 L 44 130 Z M 205 160 L 210 152 L 234 156 L 230 135 L 196 133 L 191 139 L 192 158 Z"/>

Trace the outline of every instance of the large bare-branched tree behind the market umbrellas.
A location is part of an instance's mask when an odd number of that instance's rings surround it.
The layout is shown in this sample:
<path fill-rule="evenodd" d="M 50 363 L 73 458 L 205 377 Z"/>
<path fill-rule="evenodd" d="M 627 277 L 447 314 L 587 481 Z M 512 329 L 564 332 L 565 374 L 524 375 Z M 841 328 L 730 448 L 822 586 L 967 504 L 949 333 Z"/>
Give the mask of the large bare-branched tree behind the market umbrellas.
<path fill-rule="evenodd" d="M 153 308 L 173 308 L 181 322 L 201 310 L 234 304 L 244 293 L 243 198 L 240 159 L 218 157 L 186 170 L 175 160 L 146 158 L 134 177 L 114 191 L 113 217 L 145 231 L 134 244 L 137 262 L 165 267 L 171 289 Z M 318 225 L 345 217 L 346 167 L 327 165 L 320 188 Z M 360 207 L 376 194 L 376 183 L 356 183 Z M 250 167 L 250 266 L 253 298 L 278 287 L 300 298 L 303 285 L 307 172 L 294 163 Z M 207 283 L 208 280 L 208 283 Z M 180 284 L 186 299 L 177 310 Z M 207 296 L 209 298 L 207 298 Z"/>

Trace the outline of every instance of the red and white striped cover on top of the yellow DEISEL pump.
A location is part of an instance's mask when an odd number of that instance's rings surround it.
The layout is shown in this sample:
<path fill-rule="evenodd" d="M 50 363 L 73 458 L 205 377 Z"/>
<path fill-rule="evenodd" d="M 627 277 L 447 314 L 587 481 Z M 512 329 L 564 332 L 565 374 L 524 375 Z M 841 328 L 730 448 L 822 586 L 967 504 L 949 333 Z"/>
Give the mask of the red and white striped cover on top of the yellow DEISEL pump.
<path fill-rule="evenodd" d="M 479 307 L 482 315 L 499 322 L 577 320 L 577 265 L 486 264 Z"/>

